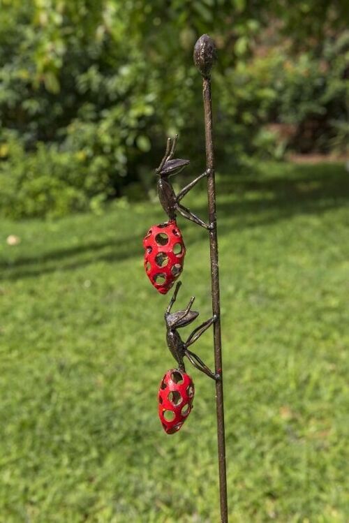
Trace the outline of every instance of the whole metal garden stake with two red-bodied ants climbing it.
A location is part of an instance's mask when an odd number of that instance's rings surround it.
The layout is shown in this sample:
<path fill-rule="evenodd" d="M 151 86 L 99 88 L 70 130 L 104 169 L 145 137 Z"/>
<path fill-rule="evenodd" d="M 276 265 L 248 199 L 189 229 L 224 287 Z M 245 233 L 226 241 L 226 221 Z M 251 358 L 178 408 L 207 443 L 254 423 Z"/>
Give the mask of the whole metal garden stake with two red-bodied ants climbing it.
<path fill-rule="evenodd" d="M 165 311 L 166 343 L 178 367 L 166 372 L 158 390 L 158 415 L 166 434 L 175 434 L 188 418 L 193 408 L 194 383 L 191 376 L 186 374 L 184 358 L 193 364 L 196 369 L 212 378 L 216 383 L 216 415 L 218 434 L 218 465 L 219 465 L 219 492 L 221 503 L 221 523 L 228 523 L 227 480 L 225 469 L 225 434 L 223 411 L 223 374 L 221 356 L 221 318 L 219 302 L 218 277 L 218 244 L 216 228 L 216 191 L 214 180 L 214 148 L 212 141 L 212 113 L 211 113 L 211 68 L 214 65 L 215 47 L 209 36 L 204 34 L 199 38 L 194 48 L 194 61 L 202 75 L 203 98 L 205 111 L 205 142 L 206 142 L 206 170 L 193 179 L 188 185 L 175 193 L 170 177 L 177 175 L 188 165 L 188 160 L 174 159 L 174 150 L 177 144 L 177 135 L 172 140 L 168 138 L 165 156 L 156 169 L 158 176 L 158 198 L 163 210 L 168 215 L 168 221 L 158 223 L 149 228 L 144 237 L 144 268 L 151 284 L 161 294 L 168 293 L 174 281 L 179 277 L 184 266 L 186 247 L 181 231 L 177 226 L 177 214 L 205 228 L 209 233 L 209 247 L 211 258 L 211 295 L 212 317 L 196 327 L 186 341 L 181 339 L 179 328 L 192 323 L 199 315 L 192 311 L 195 300 L 191 297 L 186 309 L 171 312 L 181 282 L 177 282 L 174 294 Z M 198 216 L 181 204 L 181 199 L 191 191 L 198 181 L 207 177 L 207 194 L 209 208 L 209 223 L 205 223 Z M 214 329 L 214 364 L 211 371 L 201 358 L 189 350 L 195 341 L 213 325 Z"/>

